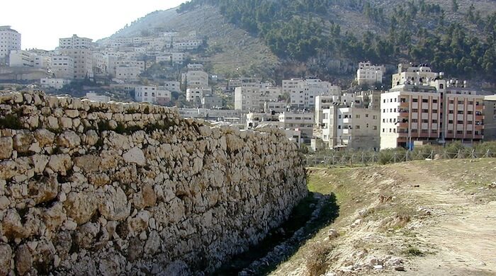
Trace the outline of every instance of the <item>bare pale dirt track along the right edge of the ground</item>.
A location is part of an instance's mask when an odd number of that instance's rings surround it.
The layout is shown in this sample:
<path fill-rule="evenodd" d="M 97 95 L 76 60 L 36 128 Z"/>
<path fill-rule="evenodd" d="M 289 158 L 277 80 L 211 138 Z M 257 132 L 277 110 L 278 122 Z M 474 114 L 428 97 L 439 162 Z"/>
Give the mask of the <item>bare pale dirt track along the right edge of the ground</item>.
<path fill-rule="evenodd" d="M 418 173 L 411 163 L 398 169 L 415 186 L 407 194 L 432 210 L 432 219 L 417 229 L 432 253 L 402 275 L 496 275 L 496 202 L 475 203 L 450 180 Z"/>

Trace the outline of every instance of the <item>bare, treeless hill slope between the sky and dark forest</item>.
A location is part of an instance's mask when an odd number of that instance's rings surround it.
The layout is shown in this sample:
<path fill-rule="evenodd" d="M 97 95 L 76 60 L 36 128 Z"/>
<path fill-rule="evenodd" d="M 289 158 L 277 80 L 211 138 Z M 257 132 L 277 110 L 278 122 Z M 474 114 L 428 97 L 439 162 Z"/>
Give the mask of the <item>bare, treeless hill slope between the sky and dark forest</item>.
<path fill-rule="evenodd" d="M 210 62 L 215 74 L 274 74 L 278 67 L 277 57 L 258 38 L 225 22 L 218 8 L 203 6 L 188 13 L 176 9 L 156 11 L 135 21 L 111 38 L 140 35 L 143 30 L 175 30 L 188 33 L 195 30 L 207 40 L 207 51 L 201 61 Z"/>

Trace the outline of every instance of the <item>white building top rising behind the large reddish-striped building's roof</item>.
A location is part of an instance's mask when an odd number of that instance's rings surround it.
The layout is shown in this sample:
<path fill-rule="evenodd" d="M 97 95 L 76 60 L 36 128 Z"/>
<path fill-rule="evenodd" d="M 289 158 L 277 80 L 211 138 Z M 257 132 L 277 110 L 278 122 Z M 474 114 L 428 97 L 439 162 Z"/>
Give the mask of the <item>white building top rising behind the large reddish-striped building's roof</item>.
<path fill-rule="evenodd" d="M 392 87 L 402 84 L 422 85 L 429 84 L 430 81 L 442 76 L 442 73 L 435 73 L 427 64 L 398 64 L 398 73 L 393 74 Z"/>

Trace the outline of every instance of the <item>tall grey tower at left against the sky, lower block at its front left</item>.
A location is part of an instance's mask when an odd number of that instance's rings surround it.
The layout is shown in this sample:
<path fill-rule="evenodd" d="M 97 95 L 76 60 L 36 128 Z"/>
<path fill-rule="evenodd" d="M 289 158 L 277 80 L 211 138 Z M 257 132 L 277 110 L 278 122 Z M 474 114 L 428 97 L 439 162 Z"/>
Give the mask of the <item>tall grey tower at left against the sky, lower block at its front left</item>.
<path fill-rule="evenodd" d="M 93 78 L 93 43 L 89 38 L 60 38 L 60 54 L 74 60 L 74 79 Z"/>

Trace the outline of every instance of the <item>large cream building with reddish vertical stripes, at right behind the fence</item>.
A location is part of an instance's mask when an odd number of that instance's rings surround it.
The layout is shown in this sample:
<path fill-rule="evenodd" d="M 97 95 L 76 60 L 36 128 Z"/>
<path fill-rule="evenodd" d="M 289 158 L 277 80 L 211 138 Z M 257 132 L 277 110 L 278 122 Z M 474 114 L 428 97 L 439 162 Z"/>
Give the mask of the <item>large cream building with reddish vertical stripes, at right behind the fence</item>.
<path fill-rule="evenodd" d="M 395 85 L 381 94 L 381 149 L 478 142 L 483 139 L 483 100 L 457 81 Z"/>

